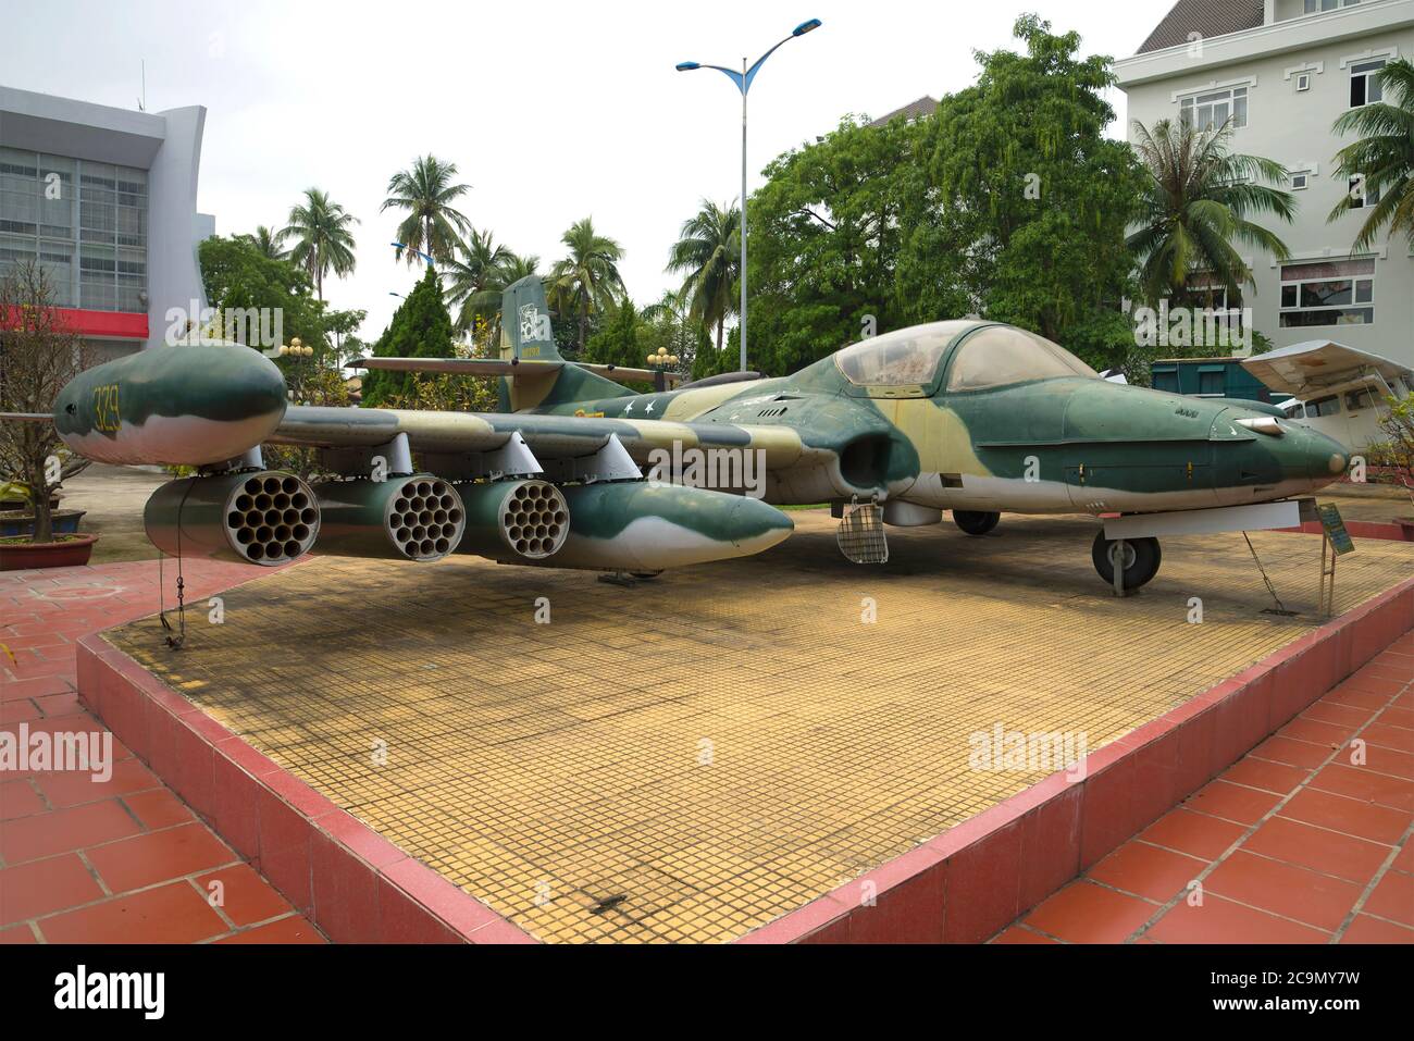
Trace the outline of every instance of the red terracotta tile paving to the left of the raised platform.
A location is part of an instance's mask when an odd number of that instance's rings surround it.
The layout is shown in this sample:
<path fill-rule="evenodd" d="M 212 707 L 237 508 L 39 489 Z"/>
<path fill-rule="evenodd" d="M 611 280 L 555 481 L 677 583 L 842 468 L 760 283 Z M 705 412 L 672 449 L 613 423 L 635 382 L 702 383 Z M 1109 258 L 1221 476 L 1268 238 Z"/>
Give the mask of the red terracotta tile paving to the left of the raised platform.
<path fill-rule="evenodd" d="M 185 570 L 192 597 L 252 574 Z M 0 574 L 0 731 L 112 738 L 78 704 L 75 644 L 156 608 L 156 563 Z M 107 781 L 0 769 L 0 943 L 324 942 L 112 740 Z"/>

